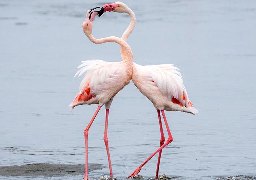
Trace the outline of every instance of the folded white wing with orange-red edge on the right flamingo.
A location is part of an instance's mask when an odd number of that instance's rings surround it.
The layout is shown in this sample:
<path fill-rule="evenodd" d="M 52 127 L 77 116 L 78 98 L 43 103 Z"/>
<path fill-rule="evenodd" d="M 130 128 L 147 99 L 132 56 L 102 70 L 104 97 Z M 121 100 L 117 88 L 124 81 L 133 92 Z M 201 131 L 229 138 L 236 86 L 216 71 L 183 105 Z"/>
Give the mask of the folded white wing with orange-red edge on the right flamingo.
<path fill-rule="evenodd" d="M 177 67 L 173 64 L 162 64 L 151 66 L 149 69 L 152 81 L 170 101 L 183 107 L 193 107 Z"/>

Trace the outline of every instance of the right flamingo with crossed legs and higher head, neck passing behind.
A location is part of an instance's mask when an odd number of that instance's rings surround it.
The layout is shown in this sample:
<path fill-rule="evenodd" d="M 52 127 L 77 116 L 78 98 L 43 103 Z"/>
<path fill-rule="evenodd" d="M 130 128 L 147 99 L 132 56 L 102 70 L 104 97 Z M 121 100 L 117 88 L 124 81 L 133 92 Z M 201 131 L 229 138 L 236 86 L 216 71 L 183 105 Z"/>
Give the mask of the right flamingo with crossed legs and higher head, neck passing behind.
<path fill-rule="evenodd" d="M 115 2 L 112 4 L 105 4 L 100 12 L 101 16 L 106 11 L 113 11 L 119 13 L 127 13 L 130 15 L 131 22 L 128 28 L 122 35 L 124 41 L 127 40 L 132 33 L 135 24 L 136 17 L 134 12 L 124 3 Z M 120 52 L 122 59 L 128 56 L 125 49 L 120 46 Z M 162 154 L 162 149 L 173 141 L 173 137 L 168 126 L 164 110 L 166 111 L 182 111 L 196 115 L 198 110 L 194 108 L 191 101 L 188 98 L 186 88 L 183 84 L 182 76 L 179 69 L 173 64 L 151 65 L 141 66 L 133 62 L 133 74 L 132 81 L 134 85 L 144 94 L 154 105 L 157 110 L 159 126 L 160 126 L 160 148 L 158 148 L 151 156 L 149 156 L 140 166 L 138 166 L 134 172 L 132 172 L 127 178 L 132 178 L 138 174 L 141 168 L 156 154 L 158 155 L 158 162 L 156 168 L 155 179 L 158 179 L 159 165 Z M 163 133 L 161 115 L 162 113 L 164 123 L 168 133 L 168 139 L 165 142 Z M 165 142 L 165 143 L 164 143 Z"/>

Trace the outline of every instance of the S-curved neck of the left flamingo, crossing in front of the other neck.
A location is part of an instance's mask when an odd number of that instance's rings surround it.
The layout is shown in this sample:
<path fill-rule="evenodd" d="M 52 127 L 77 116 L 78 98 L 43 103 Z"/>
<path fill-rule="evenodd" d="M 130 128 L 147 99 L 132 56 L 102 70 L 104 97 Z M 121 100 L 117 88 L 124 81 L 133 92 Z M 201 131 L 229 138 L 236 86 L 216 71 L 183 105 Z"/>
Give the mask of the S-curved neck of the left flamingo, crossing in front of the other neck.
<path fill-rule="evenodd" d="M 87 37 L 90 39 L 90 41 L 92 41 L 95 44 L 102 44 L 102 43 L 106 43 L 106 42 L 115 42 L 115 43 L 119 44 L 120 47 L 122 47 L 124 53 L 126 54 L 123 61 L 132 65 L 132 63 L 133 63 L 132 50 L 131 50 L 130 46 L 121 38 L 118 38 L 116 36 L 109 36 L 109 37 L 105 37 L 105 38 L 101 38 L 101 39 L 96 39 L 93 37 L 92 34 L 87 35 Z"/>

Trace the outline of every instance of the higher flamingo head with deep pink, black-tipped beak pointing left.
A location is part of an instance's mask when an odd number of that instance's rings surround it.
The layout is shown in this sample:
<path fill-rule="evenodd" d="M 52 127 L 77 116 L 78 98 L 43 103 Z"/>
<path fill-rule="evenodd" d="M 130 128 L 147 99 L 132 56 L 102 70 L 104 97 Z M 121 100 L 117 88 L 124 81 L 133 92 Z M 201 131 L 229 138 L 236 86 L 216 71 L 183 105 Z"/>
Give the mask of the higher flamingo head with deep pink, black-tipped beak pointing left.
<path fill-rule="evenodd" d="M 105 4 L 104 6 L 102 6 L 101 10 L 99 11 L 99 16 L 101 16 L 103 13 L 109 11 L 114 11 L 114 12 L 125 12 L 126 11 L 126 4 L 122 3 L 122 2 L 115 2 L 112 4 Z"/>

